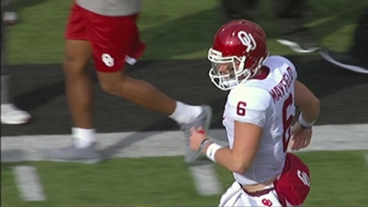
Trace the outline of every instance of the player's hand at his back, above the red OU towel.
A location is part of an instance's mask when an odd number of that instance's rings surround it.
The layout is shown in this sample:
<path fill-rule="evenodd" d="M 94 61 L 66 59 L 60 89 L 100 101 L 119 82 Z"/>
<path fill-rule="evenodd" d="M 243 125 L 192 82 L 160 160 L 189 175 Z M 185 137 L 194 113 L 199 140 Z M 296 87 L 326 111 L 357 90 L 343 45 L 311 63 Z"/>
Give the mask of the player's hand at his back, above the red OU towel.
<path fill-rule="evenodd" d="M 311 143 L 312 128 L 303 129 L 299 122 L 291 127 L 291 150 L 300 150 L 307 147 Z"/>

